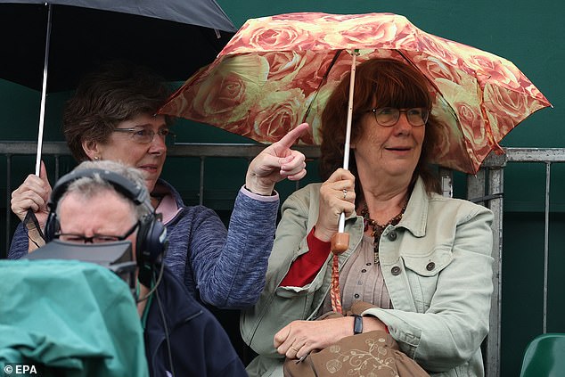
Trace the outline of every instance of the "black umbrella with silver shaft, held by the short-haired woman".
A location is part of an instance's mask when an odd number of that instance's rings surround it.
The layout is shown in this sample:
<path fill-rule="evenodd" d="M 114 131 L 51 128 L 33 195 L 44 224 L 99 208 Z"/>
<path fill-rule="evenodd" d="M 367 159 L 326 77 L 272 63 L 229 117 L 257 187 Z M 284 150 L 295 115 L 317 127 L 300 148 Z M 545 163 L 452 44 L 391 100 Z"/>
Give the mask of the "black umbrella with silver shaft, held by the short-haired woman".
<path fill-rule="evenodd" d="M 17 3 L 17 4 L 16 4 Z M 72 89 L 102 61 L 127 59 L 171 81 L 213 61 L 236 31 L 215 0 L 0 0 L 0 78 L 45 95 Z"/>

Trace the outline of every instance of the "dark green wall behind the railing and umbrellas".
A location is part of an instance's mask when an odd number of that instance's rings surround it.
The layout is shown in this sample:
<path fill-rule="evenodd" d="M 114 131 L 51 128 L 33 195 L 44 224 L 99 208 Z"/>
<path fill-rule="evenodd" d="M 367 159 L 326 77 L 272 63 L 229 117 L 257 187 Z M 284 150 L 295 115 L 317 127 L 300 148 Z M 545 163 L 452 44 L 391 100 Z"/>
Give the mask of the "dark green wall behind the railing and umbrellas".
<path fill-rule="evenodd" d="M 555 0 L 218 0 L 236 27 L 254 17 L 283 12 L 395 12 L 405 15 L 419 28 L 487 50 L 513 61 L 553 102 L 554 109 L 539 111 L 504 138 L 506 147 L 565 147 L 561 131 L 565 112 L 565 27 L 558 15 L 565 5 Z M 3 36 L 5 37 L 5 36 Z M 154 48 L 154 46 L 148 46 Z M 197 53 L 197 52 L 195 52 Z M 62 140 L 59 132 L 61 107 L 66 93 L 49 94 L 45 140 Z M 39 94 L 0 80 L 0 140 L 36 140 Z M 214 127 L 182 121 L 176 127 L 178 141 L 205 143 L 250 143 Z M 0 175 L 4 175 L 0 161 Z M 552 216 L 550 225 L 549 332 L 565 332 L 565 167 L 552 169 Z M 13 182 L 33 172 L 34 160 L 20 158 Z M 233 191 L 242 184 L 245 161 L 210 160 L 207 163 L 205 204 L 227 213 Z M 316 180 L 315 165 L 308 180 Z M 179 174 L 179 172 L 182 172 Z M 50 174 L 53 174 L 51 172 Z M 198 161 L 168 160 L 163 175 L 190 202 L 197 201 Z M 211 175 L 211 176 L 210 176 Z M 463 196 L 463 179 L 456 180 L 455 194 Z M 528 340 L 542 332 L 542 287 L 544 261 L 545 166 L 511 164 L 504 176 L 504 258 L 502 376 L 519 374 L 520 360 Z M 0 184 L 5 195 L 5 184 Z M 291 192 L 282 185 L 282 197 Z M 1 236 L 0 236 L 1 237 Z M 1 240 L 0 240 L 1 241 Z M 1 244 L 4 244 L 2 242 Z"/>

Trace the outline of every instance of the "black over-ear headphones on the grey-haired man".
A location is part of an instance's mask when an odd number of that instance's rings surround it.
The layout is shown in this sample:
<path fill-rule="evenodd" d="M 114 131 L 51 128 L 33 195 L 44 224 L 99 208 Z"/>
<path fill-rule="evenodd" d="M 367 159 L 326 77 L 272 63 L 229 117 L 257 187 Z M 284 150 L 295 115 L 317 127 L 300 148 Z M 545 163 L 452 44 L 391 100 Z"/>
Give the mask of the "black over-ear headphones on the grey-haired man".
<path fill-rule="evenodd" d="M 100 176 L 102 180 L 108 182 L 114 189 L 124 195 L 136 206 L 143 205 L 147 201 L 147 190 L 134 184 L 124 176 L 102 168 L 88 168 L 79 171 L 72 171 L 57 181 L 53 187 L 51 198 L 47 204 L 49 215 L 45 223 L 45 242 L 53 241 L 55 234 L 61 230 L 56 209 L 61 197 L 67 192 L 69 185 L 82 177 L 94 178 Z M 151 272 L 152 266 L 159 264 L 167 249 L 167 228 L 160 221 L 158 215 L 151 210 L 151 214 L 143 216 L 139 220 L 135 245 L 135 260 L 140 268 L 140 281 L 143 271 Z M 143 282 L 142 282 L 143 283 Z"/>

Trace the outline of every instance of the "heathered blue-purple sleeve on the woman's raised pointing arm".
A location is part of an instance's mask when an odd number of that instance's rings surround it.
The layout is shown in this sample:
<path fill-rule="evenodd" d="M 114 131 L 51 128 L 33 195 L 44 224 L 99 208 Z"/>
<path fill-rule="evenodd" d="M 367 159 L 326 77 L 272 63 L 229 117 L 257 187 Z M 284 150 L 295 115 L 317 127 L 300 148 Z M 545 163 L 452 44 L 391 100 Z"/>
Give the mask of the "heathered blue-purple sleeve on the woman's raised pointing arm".
<path fill-rule="evenodd" d="M 226 238 L 218 232 L 224 227 L 219 217 L 194 218 L 190 258 L 203 301 L 221 308 L 257 302 L 265 286 L 278 205 L 278 199 L 259 201 L 240 191 Z"/>

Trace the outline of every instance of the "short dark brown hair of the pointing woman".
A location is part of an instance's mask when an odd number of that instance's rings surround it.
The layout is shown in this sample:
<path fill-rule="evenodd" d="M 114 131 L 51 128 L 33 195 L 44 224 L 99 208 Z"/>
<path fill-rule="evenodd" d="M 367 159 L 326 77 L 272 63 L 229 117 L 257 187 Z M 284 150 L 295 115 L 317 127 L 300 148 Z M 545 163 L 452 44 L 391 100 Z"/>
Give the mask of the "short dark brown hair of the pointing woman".
<path fill-rule="evenodd" d="M 106 143 L 120 122 L 154 114 L 170 93 L 164 79 L 145 67 L 127 61 L 102 64 L 81 79 L 63 111 L 62 132 L 73 157 L 89 160 L 83 141 Z"/>

